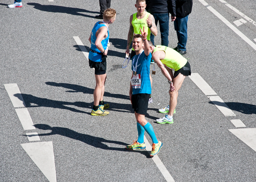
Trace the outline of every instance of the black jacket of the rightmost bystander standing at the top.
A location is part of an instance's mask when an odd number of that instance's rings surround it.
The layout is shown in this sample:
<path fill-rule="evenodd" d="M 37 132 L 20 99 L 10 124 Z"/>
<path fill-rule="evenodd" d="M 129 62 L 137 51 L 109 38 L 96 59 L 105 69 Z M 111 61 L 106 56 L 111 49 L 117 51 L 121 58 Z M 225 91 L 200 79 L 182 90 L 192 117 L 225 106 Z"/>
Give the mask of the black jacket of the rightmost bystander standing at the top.
<path fill-rule="evenodd" d="M 192 0 L 176 0 L 176 16 L 186 17 L 192 11 Z"/>

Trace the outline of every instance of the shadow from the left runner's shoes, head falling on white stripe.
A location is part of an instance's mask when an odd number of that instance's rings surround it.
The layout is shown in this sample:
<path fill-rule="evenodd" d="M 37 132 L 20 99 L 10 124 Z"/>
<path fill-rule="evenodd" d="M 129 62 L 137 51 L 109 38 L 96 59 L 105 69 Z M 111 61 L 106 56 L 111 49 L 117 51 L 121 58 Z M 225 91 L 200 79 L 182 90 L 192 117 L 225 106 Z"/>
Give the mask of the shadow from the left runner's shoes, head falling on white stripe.
<path fill-rule="evenodd" d="M 68 107 L 65 105 L 91 108 L 93 104 L 93 103 L 86 103 L 86 102 L 63 102 L 63 101 L 57 101 L 57 100 L 50 100 L 45 98 L 39 98 L 30 94 L 21 94 L 21 95 L 26 104 L 26 107 L 52 107 L 52 108 L 66 109 L 73 112 L 91 114 L 90 112 L 80 111 L 76 108 Z M 18 97 L 19 94 L 14 94 L 14 96 Z M 34 106 L 33 104 L 36 104 L 36 105 Z"/>

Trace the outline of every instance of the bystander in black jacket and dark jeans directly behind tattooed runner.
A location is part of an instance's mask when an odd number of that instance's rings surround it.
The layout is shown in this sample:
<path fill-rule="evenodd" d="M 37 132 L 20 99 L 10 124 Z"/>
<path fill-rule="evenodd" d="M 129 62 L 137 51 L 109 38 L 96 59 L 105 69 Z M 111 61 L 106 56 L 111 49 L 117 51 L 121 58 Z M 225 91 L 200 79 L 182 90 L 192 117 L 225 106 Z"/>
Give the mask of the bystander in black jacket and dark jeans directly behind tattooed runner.
<path fill-rule="evenodd" d="M 146 0 L 146 10 L 154 16 L 155 24 L 159 21 L 161 32 L 161 45 L 168 47 L 169 40 L 169 12 L 171 19 L 176 19 L 175 0 Z M 154 35 L 151 33 L 150 40 L 154 44 Z"/>

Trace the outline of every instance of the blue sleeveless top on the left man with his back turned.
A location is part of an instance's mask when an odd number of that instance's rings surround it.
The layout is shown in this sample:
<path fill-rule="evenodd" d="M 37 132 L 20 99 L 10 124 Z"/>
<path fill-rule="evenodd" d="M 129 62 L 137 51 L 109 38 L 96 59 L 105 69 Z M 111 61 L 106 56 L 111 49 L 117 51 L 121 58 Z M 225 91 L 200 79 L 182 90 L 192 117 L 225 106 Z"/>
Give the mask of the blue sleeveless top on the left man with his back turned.
<path fill-rule="evenodd" d="M 98 21 L 95 25 L 94 25 L 94 27 L 93 27 L 93 29 L 92 29 L 92 31 L 91 31 L 91 49 L 93 50 L 93 51 L 96 51 L 96 52 L 101 52 L 101 51 L 99 51 L 98 50 L 98 48 L 95 46 L 95 41 L 96 41 L 96 39 L 97 39 L 97 37 L 96 37 L 96 32 L 98 31 L 98 29 L 99 28 L 101 28 L 101 27 L 103 27 L 103 26 L 105 26 L 105 27 L 107 27 L 105 24 L 99 24 L 99 23 L 101 23 L 101 21 Z M 108 27 L 107 27 L 108 28 Z M 109 41 L 109 30 L 108 30 L 108 37 L 106 37 L 106 39 L 103 39 L 102 41 L 101 41 L 101 44 L 102 44 L 102 46 L 103 46 L 103 48 L 104 49 L 106 49 L 107 47 L 108 47 L 108 41 Z M 89 52 L 89 59 L 91 60 L 91 61 L 94 61 L 94 62 L 101 62 L 102 61 L 102 59 L 101 59 L 101 55 L 99 55 L 99 54 L 97 54 L 97 53 L 94 53 L 94 52 Z"/>

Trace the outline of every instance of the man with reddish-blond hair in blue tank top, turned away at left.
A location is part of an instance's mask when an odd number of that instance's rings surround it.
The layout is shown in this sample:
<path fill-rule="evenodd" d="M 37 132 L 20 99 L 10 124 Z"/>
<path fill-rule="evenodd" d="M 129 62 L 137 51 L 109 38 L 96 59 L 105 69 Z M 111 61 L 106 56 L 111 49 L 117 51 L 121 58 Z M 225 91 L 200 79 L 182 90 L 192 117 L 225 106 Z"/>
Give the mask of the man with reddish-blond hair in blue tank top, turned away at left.
<path fill-rule="evenodd" d="M 110 24 L 116 20 L 116 10 L 109 8 L 103 13 L 103 21 L 98 21 L 91 31 L 89 41 L 91 50 L 89 52 L 89 66 L 95 69 L 96 86 L 93 92 L 94 104 L 91 115 L 105 116 L 109 112 L 103 109 L 109 107 L 103 101 L 103 95 L 106 82 L 106 55 L 108 54 L 109 30 Z"/>

